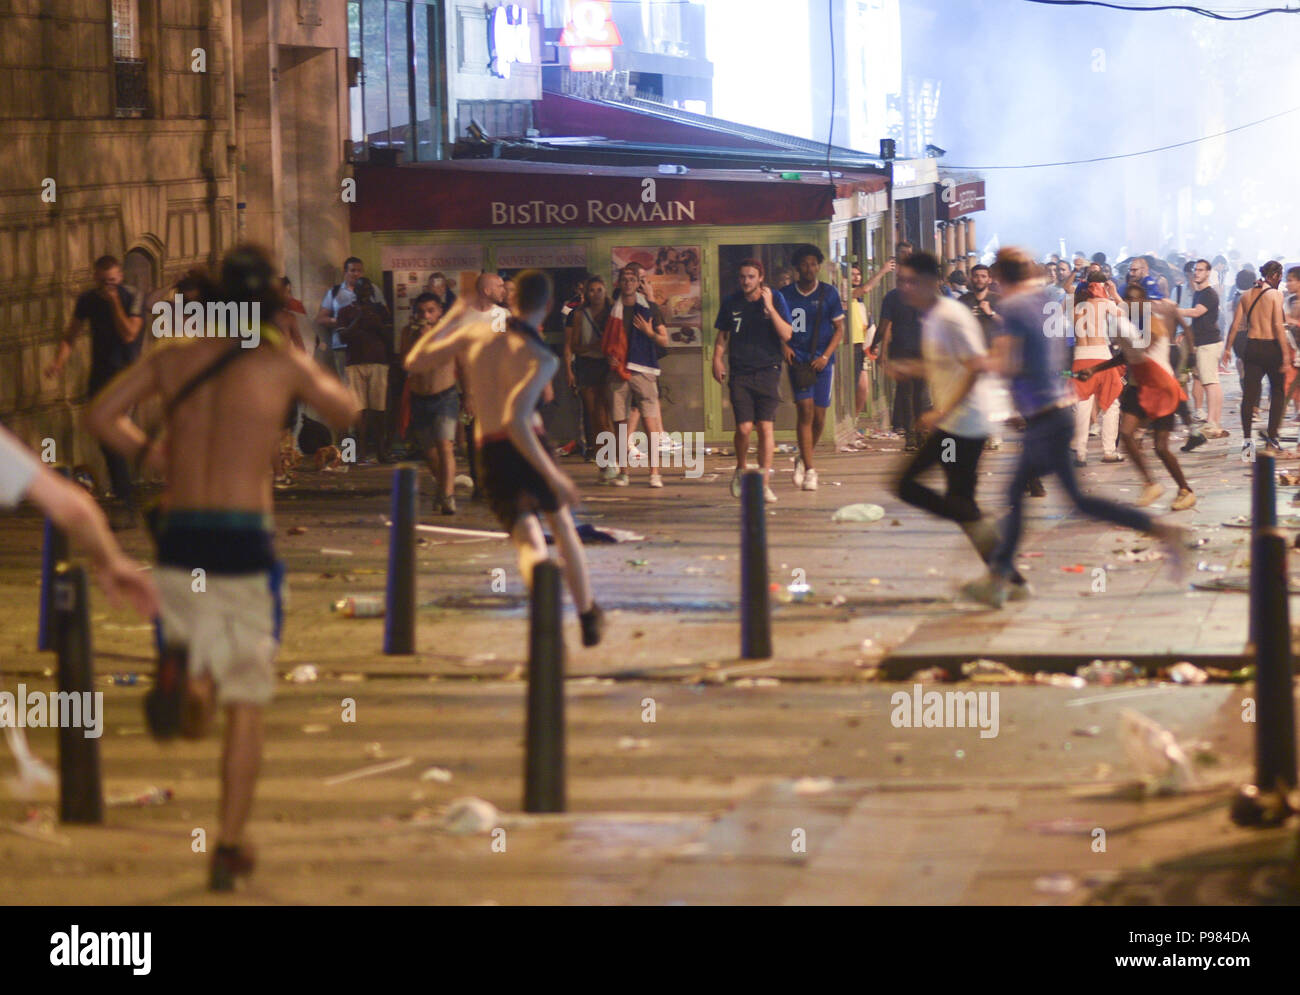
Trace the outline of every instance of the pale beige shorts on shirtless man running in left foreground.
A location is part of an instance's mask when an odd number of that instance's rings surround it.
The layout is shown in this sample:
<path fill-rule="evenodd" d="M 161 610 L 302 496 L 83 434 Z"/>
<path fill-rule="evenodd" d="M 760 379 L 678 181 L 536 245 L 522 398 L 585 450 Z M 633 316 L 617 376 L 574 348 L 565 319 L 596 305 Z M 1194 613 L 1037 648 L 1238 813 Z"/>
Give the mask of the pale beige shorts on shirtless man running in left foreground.
<path fill-rule="evenodd" d="M 190 675 L 209 675 L 220 705 L 269 702 L 280 650 L 280 577 L 209 572 L 200 585 L 188 570 L 160 566 L 153 580 L 162 643 L 187 649 Z"/>

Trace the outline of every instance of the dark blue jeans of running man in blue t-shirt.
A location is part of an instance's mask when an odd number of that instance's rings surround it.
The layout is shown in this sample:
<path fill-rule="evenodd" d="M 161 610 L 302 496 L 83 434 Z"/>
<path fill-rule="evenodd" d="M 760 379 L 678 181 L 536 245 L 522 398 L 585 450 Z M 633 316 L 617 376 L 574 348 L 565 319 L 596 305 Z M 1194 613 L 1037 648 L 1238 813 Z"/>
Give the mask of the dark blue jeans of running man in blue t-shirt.
<path fill-rule="evenodd" d="M 1030 477 L 1056 476 L 1074 506 L 1088 518 L 1110 522 L 1124 528 L 1135 528 L 1139 532 L 1150 531 L 1152 518 L 1144 511 L 1127 505 L 1117 505 L 1114 501 L 1091 497 L 1079 490 L 1079 481 L 1074 476 L 1074 454 L 1070 451 L 1072 438 L 1074 415 L 1066 407 L 1035 416 L 1026 425 L 1020 462 L 1015 467 L 1011 490 L 1008 496 L 1010 507 L 1002 522 L 1002 541 L 993 550 L 993 558 L 989 561 L 989 570 L 994 574 L 1004 577 L 1011 577 L 1014 574 L 1011 561 L 1015 559 L 1015 548 L 1020 542 L 1024 489 Z"/>

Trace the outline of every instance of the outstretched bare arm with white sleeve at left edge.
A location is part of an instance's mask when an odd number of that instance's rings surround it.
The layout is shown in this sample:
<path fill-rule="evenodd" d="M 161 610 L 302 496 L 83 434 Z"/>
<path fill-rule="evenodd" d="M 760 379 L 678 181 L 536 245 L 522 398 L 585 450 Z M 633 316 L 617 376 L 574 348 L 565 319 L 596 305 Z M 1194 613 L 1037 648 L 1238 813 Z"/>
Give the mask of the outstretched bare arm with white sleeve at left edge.
<path fill-rule="evenodd" d="M 90 554 L 99 584 L 114 606 L 125 601 L 147 619 L 157 614 L 153 581 L 122 553 L 94 498 L 43 466 L 22 442 L 0 428 L 0 507 L 14 507 L 23 498 Z"/>

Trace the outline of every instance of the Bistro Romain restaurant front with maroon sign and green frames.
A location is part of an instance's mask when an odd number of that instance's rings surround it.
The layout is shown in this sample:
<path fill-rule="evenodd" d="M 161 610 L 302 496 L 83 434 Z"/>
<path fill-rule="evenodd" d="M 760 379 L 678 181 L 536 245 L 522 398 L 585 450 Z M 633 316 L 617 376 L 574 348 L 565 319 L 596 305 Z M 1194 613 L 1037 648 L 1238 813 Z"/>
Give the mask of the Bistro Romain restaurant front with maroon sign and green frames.
<path fill-rule="evenodd" d="M 740 261 L 760 259 L 768 284 L 779 286 L 793 250 L 815 245 L 826 254 L 822 278 L 846 298 L 850 261 L 863 260 L 870 273 L 892 251 L 887 178 L 876 173 L 831 179 L 759 169 L 482 160 L 358 165 L 356 183 L 352 251 L 367 272 L 382 273 L 399 328 L 434 272 L 468 291 L 485 269 L 510 276 L 540 268 L 555 280 L 556 307 L 543 332 L 560 350 L 559 304 L 576 294 L 582 277 L 598 273 L 612 287 L 616 269 L 645 265 L 672 343 L 660 360 L 664 429 L 703 432 L 711 442 L 729 440 L 734 429 L 711 358 L 714 320 L 737 289 Z M 853 415 L 852 365 L 846 334 L 832 424 Z M 563 371 L 556 386 L 563 388 Z M 784 381 L 783 394 L 789 399 Z M 556 398 L 545 416 L 552 437 L 563 441 L 577 433 L 577 408 L 567 388 Z M 793 440 L 793 403 L 781 406 L 776 429 L 779 438 Z"/>

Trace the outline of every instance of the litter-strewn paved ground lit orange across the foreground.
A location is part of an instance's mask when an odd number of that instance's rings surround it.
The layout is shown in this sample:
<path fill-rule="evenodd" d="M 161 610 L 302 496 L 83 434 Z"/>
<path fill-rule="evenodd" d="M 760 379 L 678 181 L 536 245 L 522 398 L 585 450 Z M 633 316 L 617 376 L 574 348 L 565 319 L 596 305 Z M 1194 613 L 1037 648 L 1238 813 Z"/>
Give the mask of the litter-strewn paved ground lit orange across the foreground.
<path fill-rule="evenodd" d="M 566 460 L 584 489 L 584 520 L 646 538 L 588 548 L 597 594 L 611 609 L 610 635 L 598 649 L 581 649 L 568 609 L 571 814 L 545 818 L 519 814 L 526 600 L 508 545 L 422 533 L 419 653 L 386 657 L 382 619 L 346 619 L 330 606 L 382 590 L 391 470 L 299 473 L 277 493 L 277 541 L 290 570 L 280 669 L 309 663 L 318 679 L 282 684 L 268 713 L 252 827 L 263 869 L 255 888 L 233 900 L 1294 897 L 1292 831 L 1238 830 L 1226 818 L 1232 789 L 1251 776 L 1253 727 L 1240 706 L 1251 685 L 961 684 L 956 689 L 997 692 L 997 737 L 893 724 L 892 697 L 913 685 L 881 676 L 979 657 L 1020 670 L 1069 671 L 1095 657 L 1132 659 L 1153 675 L 1178 659 L 1235 667 L 1245 662 L 1247 627 L 1245 594 L 1173 584 L 1164 561 L 1145 558 L 1147 540 L 1080 520 L 1050 481 L 1048 497 L 1030 502 L 1022 546 L 1035 597 L 1002 611 L 954 600 L 982 567 L 958 529 L 890 496 L 904 458 L 896 449 L 878 440 L 867 453 L 819 455 L 815 493 L 794 490 L 789 457 L 777 458 L 772 580 L 784 588 L 806 579 L 814 594 L 775 605 L 770 661 L 737 658 L 738 507 L 727 490 L 728 458 L 710 457 L 701 480 L 668 472 L 663 490 L 644 477 L 628 489 L 594 486 L 594 467 Z M 1247 568 L 1248 531 L 1223 525 L 1249 509 L 1249 467 L 1239 451 L 1240 440 L 1228 438 L 1184 458 L 1200 503 L 1173 518 L 1204 540 L 1191 557 L 1205 568 L 1192 580 Z M 985 454 L 980 498 L 989 509 L 1001 505 L 1014 458 L 1014 444 Z M 1082 475 L 1087 488 L 1117 499 L 1139 490 L 1124 464 Z M 1290 511 L 1290 496 L 1279 489 L 1279 514 Z M 858 501 L 881 505 L 884 518 L 831 522 L 836 507 Z M 422 520 L 497 528 L 469 502 L 455 516 Z M 34 649 L 39 536 L 30 511 L 0 518 L 8 685 L 49 687 L 53 659 Z M 142 533 L 124 538 L 148 555 Z M 152 744 L 139 713 L 151 628 L 96 596 L 94 630 L 109 708 L 105 788 L 131 795 L 169 786 L 176 800 L 110 809 L 105 827 L 56 826 L 51 835 L 34 826 L 52 812 L 52 796 L 5 797 L 0 881 L 18 901 L 211 901 L 204 858 L 190 840 L 211 827 L 216 809 L 216 747 Z M 113 683 L 113 675 L 138 683 Z M 356 724 L 341 722 L 343 698 L 358 704 Z M 659 709 L 654 724 L 644 721 L 647 700 Z M 1150 715 L 1180 741 L 1208 744 L 1193 747 L 1199 791 L 1131 795 L 1126 786 L 1138 771 L 1119 744 L 1122 708 Z M 52 735 L 34 730 L 31 740 L 40 756 L 55 757 Z M 391 771 L 326 783 L 406 758 Z M 432 765 L 452 779 L 422 779 Z M 460 796 L 499 809 L 506 853 L 486 835 L 442 831 Z M 1097 829 L 1106 832 L 1105 852 L 1093 849 Z M 796 830 L 801 851 L 792 848 Z"/>

